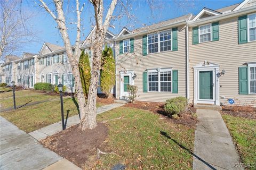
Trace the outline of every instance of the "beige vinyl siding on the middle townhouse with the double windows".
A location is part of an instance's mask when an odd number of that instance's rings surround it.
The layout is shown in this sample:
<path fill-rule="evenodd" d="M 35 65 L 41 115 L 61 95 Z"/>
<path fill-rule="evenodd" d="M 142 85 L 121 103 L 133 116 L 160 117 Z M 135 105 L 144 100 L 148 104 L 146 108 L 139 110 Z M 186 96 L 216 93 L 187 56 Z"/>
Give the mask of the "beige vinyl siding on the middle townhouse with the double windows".
<path fill-rule="evenodd" d="M 134 37 L 134 53 L 119 55 L 119 41 L 116 43 L 116 98 L 120 94 L 119 71 L 133 70 L 137 74 L 134 85 L 138 86 L 137 100 L 164 102 L 177 96 L 186 97 L 186 26 L 178 27 L 178 51 L 159 52 L 142 56 L 142 36 Z M 142 73 L 146 69 L 169 68 L 178 70 L 178 94 L 171 92 L 143 92 Z"/>

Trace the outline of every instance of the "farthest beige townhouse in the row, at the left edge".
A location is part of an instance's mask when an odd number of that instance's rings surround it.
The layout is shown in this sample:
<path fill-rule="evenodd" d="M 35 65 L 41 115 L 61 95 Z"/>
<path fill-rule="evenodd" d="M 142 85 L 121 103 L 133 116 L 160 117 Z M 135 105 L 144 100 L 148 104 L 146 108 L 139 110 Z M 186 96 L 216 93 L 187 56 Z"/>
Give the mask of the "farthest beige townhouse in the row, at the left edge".
<path fill-rule="evenodd" d="M 2 69 L 2 74 L 4 76 L 1 76 L 2 82 L 7 83 L 8 85 L 11 85 L 11 82 L 15 80 L 15 70 L 16 70 L 16 65 L 13 64 L 13 61 L 18 60 L 19 57 L 15 55 L 7 55 L 4 58 L 4 63 L 1 65 Z"/>

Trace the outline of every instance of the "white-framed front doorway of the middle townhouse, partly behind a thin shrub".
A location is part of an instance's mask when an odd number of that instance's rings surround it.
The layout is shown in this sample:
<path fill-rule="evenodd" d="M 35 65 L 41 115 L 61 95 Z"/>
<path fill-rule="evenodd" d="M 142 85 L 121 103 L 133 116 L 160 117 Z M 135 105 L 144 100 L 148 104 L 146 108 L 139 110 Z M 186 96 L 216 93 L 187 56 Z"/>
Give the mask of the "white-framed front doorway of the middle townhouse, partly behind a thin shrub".
<path fill-rule="evenodd" d="M 120 73 L 120 99 L 127 99 L 129 97 L 128 86 L 133 84 L 133 71 Z"/>

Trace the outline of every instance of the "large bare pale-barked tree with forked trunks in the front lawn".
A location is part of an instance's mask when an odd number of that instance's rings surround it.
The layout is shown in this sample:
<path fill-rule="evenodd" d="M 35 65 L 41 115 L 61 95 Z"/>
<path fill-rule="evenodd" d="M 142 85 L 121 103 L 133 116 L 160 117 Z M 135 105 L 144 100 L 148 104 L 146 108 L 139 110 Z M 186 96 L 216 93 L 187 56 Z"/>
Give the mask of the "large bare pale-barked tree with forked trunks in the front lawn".
<path fill-rule="evenodd" d="M 72 68 L 72 72 L 75 78 L 75 89 L 77 94 L 79 111 L 81 114 L 81 128 L 84 129 L 94 129 L 97 126 L 96 122 L 96 99 L 97 99 L 97 89 L 98 89 L 98 81 L 99 81 L 99 72 L 101 66 L 101 53 L 102 46 L 104 43 L 105 35 L 108 30 L 110 20 L 112 18 L 112 14 L 114 12 L 117 0 L 113 0 L 109 6 L 108 12 L 106 14 L 105 21 L 103 22 L 103 0 L 92 0 L 90 1 L 94 7 L 94 16 L 95 16 L 95 40 L 93 43 L 93 62 L 92 62 L 92 74 L 91 74 L 91 82 L 89 88 L 89 94 L 87 98 L 87 103 L 85 101 L 83 88 L 81 79 L 79 76 L 78 69 L 78 50 L 79 50 L 79 42 L 81 38 L 81 12 L 83 10 L 83 6 L 79 7 L 79 0 L 76 0 L 76 17 L 77 17 L 77 36 L 75 43 L 75 53 L 72 52 L 72 47 L 67 31 L 67 24 L 65 19 L 65 13 L 63 12 L 63 1 L 61 0 L 53 0 L 57 15 L 50 10 L 47 4 L 43 0 L 39 0 L 42 7 L 51 14 L 52 18 L 57 22 L 58 28 L 61 33 L 62 40 L 65 44 L 66 52 L 70 61 L 70 65 Z"/>

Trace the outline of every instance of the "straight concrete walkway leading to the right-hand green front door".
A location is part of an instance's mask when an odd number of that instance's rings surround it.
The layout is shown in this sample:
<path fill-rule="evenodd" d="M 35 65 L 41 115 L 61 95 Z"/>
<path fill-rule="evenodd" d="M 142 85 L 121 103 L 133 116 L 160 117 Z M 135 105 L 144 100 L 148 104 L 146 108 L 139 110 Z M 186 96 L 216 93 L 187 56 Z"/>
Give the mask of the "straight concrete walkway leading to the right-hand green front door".
<path fill-rule="evenodd" d="M 218 111 L 197 109 L 193 169 L 243 169 L 234 167 L 239 155 Z M 232 166 L 233 165 L 233 166 Z"/>

